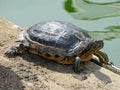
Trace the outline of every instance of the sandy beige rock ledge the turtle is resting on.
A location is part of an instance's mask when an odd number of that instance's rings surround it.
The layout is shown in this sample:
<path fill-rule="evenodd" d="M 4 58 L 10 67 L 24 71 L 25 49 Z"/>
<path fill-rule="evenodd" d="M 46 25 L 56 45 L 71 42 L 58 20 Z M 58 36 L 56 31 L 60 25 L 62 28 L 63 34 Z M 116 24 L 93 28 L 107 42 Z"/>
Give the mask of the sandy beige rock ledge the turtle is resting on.
<path fill-rule="evenodd" d="M 92 62 L 78 74 L 72 65 L 30 53 L 6 57 L 5 49 L 18 43 L 19 32 L 19 26 L 0 19 L 0 90 L 120 90 L 120 76 Z"/>

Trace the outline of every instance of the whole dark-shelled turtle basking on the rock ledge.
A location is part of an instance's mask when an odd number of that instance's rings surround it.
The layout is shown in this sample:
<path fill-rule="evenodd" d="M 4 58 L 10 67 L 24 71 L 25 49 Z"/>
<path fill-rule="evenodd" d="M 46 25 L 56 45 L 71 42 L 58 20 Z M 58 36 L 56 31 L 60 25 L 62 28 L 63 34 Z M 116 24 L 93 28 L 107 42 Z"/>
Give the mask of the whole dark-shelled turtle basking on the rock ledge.
<path fill-rule="evenodd" d="M 107 54 L 100 51 L 103 40 L 93 39 L 85 30 L 65 21 L 39 22 L 19 34 L 18 45 L 5 50 L 6 56 L 30 52 L 61 64 L 73 64 L 75 72 L 81 71 L 81 63 L 99 58 L 107 64 Z"/>

